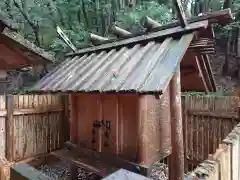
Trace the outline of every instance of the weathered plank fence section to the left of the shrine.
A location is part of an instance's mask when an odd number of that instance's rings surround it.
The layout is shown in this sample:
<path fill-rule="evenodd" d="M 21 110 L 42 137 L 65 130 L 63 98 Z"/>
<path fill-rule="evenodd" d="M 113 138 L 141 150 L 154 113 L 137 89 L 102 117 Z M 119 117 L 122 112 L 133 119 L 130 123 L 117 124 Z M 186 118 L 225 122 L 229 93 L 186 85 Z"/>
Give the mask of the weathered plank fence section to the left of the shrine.
<path fill-rule="evenodd" d="M 0 157 L 20 161 L 62 147 L 68 140 L 66 97 L 0 96 Z"/>

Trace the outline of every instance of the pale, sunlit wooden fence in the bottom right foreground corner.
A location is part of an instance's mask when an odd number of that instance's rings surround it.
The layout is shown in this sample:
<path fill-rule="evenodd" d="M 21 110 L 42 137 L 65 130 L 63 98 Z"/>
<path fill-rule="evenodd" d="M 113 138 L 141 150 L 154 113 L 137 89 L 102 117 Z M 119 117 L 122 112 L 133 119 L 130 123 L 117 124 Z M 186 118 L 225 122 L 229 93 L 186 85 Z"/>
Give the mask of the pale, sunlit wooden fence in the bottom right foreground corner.
<path fill-rule="evenodd" d="M 189 179 L 240 179 L 240 124 L 221 143 L 215 153 L 189 175 Z"/>

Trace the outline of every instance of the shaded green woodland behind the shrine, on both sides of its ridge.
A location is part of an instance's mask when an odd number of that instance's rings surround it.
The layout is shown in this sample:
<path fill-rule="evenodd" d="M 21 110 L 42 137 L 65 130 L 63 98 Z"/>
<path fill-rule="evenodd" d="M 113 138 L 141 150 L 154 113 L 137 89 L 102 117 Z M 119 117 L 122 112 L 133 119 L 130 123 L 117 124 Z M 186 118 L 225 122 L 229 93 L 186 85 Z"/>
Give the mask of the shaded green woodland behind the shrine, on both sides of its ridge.
<path fill-rule="evenodd" d="M 188 17 L 231 8 L 235 20 L 215 26 L 216 43 L 225 53 L 222 74 L 240 77 L 239 67 L 231 72 L 229 56 L 240 57 L 240 0 L 181 0 Z M 1 0 L 1 12 L 18 27 L 18 32 L 36 45 L 55 52 L 59 61 L 69 47 L 57 35 L 59 26 L 77 48 L 90 44 L 89 33 L 113 36 L 115 24 L 131 33 L 144 30 L 141 19 L 151 17 L 160 24 L 176 20 L 171 0 Z M 45 72 L 45 71 L 44 71 Z M 42 76 L 42 75 L 41 75 Z"/>

